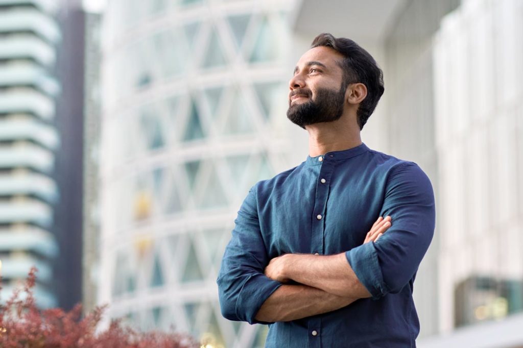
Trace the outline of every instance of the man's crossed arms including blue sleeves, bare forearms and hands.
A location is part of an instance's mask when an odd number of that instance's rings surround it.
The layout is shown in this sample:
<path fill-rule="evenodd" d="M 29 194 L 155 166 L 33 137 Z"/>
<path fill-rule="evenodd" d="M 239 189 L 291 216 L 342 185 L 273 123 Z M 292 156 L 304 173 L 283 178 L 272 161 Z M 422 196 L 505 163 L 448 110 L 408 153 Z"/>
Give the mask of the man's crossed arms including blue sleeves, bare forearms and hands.
<path fill-rule="evenodd" d="M 370 233 L 345 254 L 287 254 L 271 260 L 260 230 L 258 190 L 249 190 L 238 211 L 218 274 L 222 315 L 230 320 L 289 321 L 333 311 L 358 298 L 400 293 L 434 234 L 430 181 L 416 164 L 405 162 L 391 169 L 386 181 L 381 214 L 393 216 L 394 226 L 379 241 L 381 234 Z"/>

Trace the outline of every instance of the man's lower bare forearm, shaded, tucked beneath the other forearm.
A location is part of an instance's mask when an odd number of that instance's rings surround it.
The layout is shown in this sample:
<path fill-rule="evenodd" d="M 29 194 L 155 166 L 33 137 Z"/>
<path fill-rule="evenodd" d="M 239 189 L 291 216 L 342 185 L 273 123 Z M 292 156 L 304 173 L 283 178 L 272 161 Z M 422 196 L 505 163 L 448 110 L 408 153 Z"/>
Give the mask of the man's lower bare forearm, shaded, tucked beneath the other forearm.
<path fill-rule="evenodd" d="M 265 322 L 290 321 L 348 306 L 356 297 L 341 297 L 306 285 L 282 285 L 272 293 L 256 314 Z"/>

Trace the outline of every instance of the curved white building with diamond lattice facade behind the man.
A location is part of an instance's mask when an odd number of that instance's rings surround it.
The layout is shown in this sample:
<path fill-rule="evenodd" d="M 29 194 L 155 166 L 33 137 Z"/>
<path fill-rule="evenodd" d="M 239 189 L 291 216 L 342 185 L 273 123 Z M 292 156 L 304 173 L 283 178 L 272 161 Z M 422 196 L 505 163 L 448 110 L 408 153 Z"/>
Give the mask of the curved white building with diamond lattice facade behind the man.
<path fill-rule="evenodd" d="M 265 326 L 222 318 L 216 278 L 246 192 L 289 166 L 292 4 L 109 2 L 98 303 L 112 317 L 263 346 Z"/>

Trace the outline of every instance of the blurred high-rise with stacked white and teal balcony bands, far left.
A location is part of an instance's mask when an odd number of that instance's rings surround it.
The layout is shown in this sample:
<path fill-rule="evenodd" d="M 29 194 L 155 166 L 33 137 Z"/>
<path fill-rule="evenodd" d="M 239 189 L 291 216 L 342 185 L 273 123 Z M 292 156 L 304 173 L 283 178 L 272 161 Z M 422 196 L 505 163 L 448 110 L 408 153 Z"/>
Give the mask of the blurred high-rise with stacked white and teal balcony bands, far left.
<path fill-rule="evenodd" d="M 53 179 L 59 134 L 54 125 L 60 85 L 52 74 L 61 39 L 55 4 L 0 1 L 0 259 L 2 300 L 38 268 L 35 297 L 58 303 L 52 233 L 58 188 Z"/>

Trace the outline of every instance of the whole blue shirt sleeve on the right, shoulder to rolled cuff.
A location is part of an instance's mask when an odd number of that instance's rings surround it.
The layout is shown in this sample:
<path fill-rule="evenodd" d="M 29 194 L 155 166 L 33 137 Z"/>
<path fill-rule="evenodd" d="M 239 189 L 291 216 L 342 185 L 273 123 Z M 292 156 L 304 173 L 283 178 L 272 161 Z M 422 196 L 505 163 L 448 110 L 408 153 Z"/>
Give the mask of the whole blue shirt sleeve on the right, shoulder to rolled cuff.
<path fill-rule="evenodd" d="M 373 299 L 398 293 L 413 279 L 434 236 L 436 212 L 430 180 L 413 162 L 391 169 L 380 216 L 391 227 L 377 242 L 346 252 L 358 280 Z"/>

